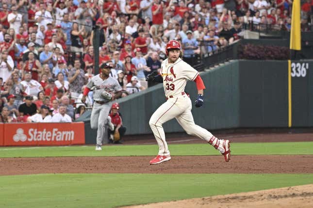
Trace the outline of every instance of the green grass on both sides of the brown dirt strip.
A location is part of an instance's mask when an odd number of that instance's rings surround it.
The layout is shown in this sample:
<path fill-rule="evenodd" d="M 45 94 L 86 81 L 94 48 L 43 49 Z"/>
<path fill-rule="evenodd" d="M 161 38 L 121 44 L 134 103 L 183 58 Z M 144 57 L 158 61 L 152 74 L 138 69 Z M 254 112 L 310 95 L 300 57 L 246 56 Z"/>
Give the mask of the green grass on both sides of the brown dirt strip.
<path fill-rule="evenodd" d="M 205 144 L 172 155 L 216 155 Z M 234 143 L 233 155 L 312 155 L 313 142 Z M 138 154 L 139 152 L 139 154 Z M 156 145 L 2 147 L 0 157 L 153 155 Z M 4 167 L 5 168 L 5 167 Z M 0 208 L 111 208 L 313 183 L 313 174 L 38 174 L 0 176 Z"/>

